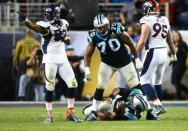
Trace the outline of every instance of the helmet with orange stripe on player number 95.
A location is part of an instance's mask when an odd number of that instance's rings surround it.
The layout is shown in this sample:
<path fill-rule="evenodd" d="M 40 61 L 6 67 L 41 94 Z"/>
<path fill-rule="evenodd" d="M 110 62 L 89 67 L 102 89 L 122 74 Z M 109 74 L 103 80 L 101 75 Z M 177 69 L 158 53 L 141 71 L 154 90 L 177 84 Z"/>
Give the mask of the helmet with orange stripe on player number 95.
<path fill-rule="evenodd" d="M 150 13 L 159 14 L 159 3 L 156 0 L 149 0 L 144 3 L 144 15 L 148 16 Z"/>

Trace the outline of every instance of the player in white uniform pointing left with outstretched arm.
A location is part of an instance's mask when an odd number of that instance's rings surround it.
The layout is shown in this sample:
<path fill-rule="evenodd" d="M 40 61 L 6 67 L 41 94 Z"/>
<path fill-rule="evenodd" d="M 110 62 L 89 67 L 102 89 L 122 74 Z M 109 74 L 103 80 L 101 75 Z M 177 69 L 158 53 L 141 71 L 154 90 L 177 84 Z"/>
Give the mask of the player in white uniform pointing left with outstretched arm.
<path fill-rule="evenodd" d="M 47 122 L 53 122 L 52 101 L 57 73 L 69 87 L 67 90 L 68 108 L 66 119 L 81 122 L 81 120 L 74 115 L 77 81 L 65 53 L 65 43 L 69 42 L 69 38 L 66 35 L 69 24 L 66 20 L 59 19 L 59 12 L 60 9 L 58 6 L 50 4 L 45 8 L 45 20 L 38 21 L 37 23 L 31 22 L 23 13 L 18 13 L 20 21 L 42 36 L 41 49 L 43 51 L 44 74 L 46 79 L 45 99 L 48 113 Z"/>

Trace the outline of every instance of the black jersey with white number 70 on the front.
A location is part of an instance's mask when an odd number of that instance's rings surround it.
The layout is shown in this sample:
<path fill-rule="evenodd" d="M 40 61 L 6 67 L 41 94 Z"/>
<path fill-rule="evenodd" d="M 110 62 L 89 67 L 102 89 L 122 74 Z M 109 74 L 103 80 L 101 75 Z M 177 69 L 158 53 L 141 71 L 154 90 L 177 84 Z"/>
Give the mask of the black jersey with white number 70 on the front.
<path fill-rule="evenodd" d="M 121 68 L 130 63 L 131 58 L 120 36 L 124 27 L 113 23 L 106 35 L 101 35 L 96 29 L 89 31 L 88 42 L 100 51 L 101 61 L 115 68 Z"/>

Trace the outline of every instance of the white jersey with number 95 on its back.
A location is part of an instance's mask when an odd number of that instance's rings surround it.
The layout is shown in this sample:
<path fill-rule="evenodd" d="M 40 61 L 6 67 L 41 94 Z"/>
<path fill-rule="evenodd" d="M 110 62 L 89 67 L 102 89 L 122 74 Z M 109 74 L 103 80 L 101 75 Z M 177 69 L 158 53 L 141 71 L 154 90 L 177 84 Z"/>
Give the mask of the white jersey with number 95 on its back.
<path fill-rule="evenodd" d="M 157 15 L 144 16 L 140 19 L 140 23 L 147 24 L 150 28 L 146 49 L 167 47 L 166 37 L 170 30 L 167 17 Z"/>

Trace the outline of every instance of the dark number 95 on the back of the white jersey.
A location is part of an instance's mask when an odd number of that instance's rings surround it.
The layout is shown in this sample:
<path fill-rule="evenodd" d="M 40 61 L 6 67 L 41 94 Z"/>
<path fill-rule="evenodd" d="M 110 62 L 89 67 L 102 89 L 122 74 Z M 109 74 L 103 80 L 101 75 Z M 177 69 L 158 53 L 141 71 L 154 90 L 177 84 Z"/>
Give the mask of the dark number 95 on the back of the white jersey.
<path fill-rule="evenodd" d="M 155 23 L 153 25 L 153 30 L 155 31 L 155 34 L 152 35 L 152 37 L 156 37 L 159 34 L 161 34 L 161 37 L 164 39 L 167 37 L 167 34 L 168 34 L 167 25 L 161 25 L 159 23 Z"/>

